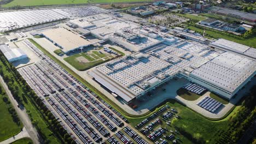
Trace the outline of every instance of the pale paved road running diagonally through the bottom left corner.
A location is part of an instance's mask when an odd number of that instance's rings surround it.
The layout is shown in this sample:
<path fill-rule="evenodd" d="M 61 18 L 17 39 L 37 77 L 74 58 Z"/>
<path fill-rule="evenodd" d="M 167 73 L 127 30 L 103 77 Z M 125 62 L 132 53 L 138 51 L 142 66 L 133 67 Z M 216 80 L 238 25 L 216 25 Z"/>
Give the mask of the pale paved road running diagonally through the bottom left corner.
<path fill-rule="evenodd" d="M 11 94 L 8 86 L 3 81 L 2 76 L 0 76 L 0 82 L 1 82 L 1 85 L 3 86 L 5 92 L 7 93 L 11 103 L 13 104 L 14 109 L 16 110 L 16 112 L 17 112 L 21 122 L 23 123 L 28 135 L 30 135 L 31 140 L 33 141 L 33 143 L 39 143 L 37 130 L 36 130 L 36 128 L 33 127 L 32 123 L 30 121 L 30 117 L 26 113 L 26 110 L 25 109 L 21 110 L 17 106 L 16 100 L 13 98 L 13 95 Z"/>

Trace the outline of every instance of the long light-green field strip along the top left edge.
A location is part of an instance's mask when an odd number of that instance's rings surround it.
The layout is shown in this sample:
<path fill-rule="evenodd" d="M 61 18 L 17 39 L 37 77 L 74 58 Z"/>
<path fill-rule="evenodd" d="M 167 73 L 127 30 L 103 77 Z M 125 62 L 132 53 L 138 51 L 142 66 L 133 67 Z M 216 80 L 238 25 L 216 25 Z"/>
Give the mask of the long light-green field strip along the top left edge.
<path fill-rule="evenodd" d="M 86 4 L 86 3 L 115 3 L 115 2 L 143 2 L 148 0 L 14 0 L 8 4 L 3 5 L 3 7 L 14 7 L 16 5 L 21 6 L 37 6 L 37 5 L 59 5 L 59 4 Z"/>

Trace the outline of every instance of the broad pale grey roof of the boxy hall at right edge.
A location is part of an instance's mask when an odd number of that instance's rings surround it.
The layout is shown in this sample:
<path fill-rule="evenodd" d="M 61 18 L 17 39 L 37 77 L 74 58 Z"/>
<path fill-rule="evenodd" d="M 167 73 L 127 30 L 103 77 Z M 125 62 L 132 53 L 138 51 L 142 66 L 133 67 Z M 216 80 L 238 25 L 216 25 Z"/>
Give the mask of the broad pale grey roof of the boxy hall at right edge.
<path fill-rule="evenodd" d="M 232 93 L 249 76 L 254 74 L 255 70 L 255 61 L 230 52 L 224 52 L 212 61 L 192 71 L 190 75 Z"/>

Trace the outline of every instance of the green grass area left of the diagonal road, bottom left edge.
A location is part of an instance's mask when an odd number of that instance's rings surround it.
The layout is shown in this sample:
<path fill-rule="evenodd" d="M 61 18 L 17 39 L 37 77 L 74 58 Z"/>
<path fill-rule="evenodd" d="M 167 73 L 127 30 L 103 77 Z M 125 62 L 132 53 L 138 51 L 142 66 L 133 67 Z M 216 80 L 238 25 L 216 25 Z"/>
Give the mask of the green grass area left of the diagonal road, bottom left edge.
<path fill-rule="evenodd" d="M 0 142 L 8 139 L 9 137 L 16 135 L 22 129 L 22 124 L 18 125 L 13 121 L 8 108 L 12 107 L 11 104 L 4 103 L 3 98 L 8 98 L 7 95 L 1 94 L 4 92 L 0 85 Z"/>

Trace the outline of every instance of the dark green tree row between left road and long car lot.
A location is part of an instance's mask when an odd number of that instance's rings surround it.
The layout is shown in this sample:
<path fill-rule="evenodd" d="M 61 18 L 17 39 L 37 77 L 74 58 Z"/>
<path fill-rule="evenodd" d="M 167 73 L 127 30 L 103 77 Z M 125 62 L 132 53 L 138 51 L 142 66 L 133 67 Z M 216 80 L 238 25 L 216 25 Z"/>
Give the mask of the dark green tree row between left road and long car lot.
<path fill-rule="evenodd" d="M 53 113 L 49 111 L 42 99 L 38 97 L 26 80 L 23 79 L 19 71 L 5 59 L 2 52 L 0 52 L 0 60 L 0 75 L 2 75 L 4 81 L 7 83 L 16 101 L 18 101 L 20 105 L 23 105 L 27 103 L 27 98 L 30 99 L 31 103 L 37 107 L 38 111 L 41 113 L 41 117 L 48 124 L 48 128 L 54 132 L 54 135 L 58 137 L 62 143 L 75 143 L 67 131 L 63 129 L 62 125 L 53 116 Z M 17 117 L 14 109 L 10 109 L 9 112 Z M 27 113 L 30 115 L 31 121 L 37 128 L 42 140 L 44 140 L 43 143 L 49 143 L 50 141 L 47 139 L 47 136 L 44 135 L 42 128 L 38 126 L 37 120 L 33 119 L 30 111 L 27 111 Z"/>

